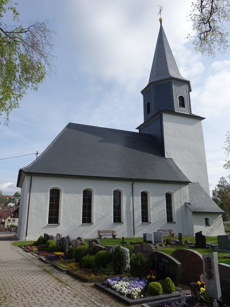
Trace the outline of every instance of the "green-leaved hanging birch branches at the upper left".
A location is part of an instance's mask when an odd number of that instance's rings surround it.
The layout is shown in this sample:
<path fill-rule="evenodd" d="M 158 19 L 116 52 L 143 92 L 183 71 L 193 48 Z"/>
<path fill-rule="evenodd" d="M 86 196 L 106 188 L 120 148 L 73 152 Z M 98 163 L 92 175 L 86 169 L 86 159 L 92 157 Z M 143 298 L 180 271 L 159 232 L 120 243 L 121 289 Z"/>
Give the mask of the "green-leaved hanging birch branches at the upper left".
<path fill-rule="evenodd" d="M 46 75 L 55 72 L 52 34 L 47 19 L 27 27 L 19 25 L 19 12 L 10 0 L 0 0 L 0 117 L 9 123 L 10 112 L 28 88 L 37 90 Z M 12 14 L 10 25 L 4 20 Z M 5 18 L 6 19 L 6 18 Z"/>

